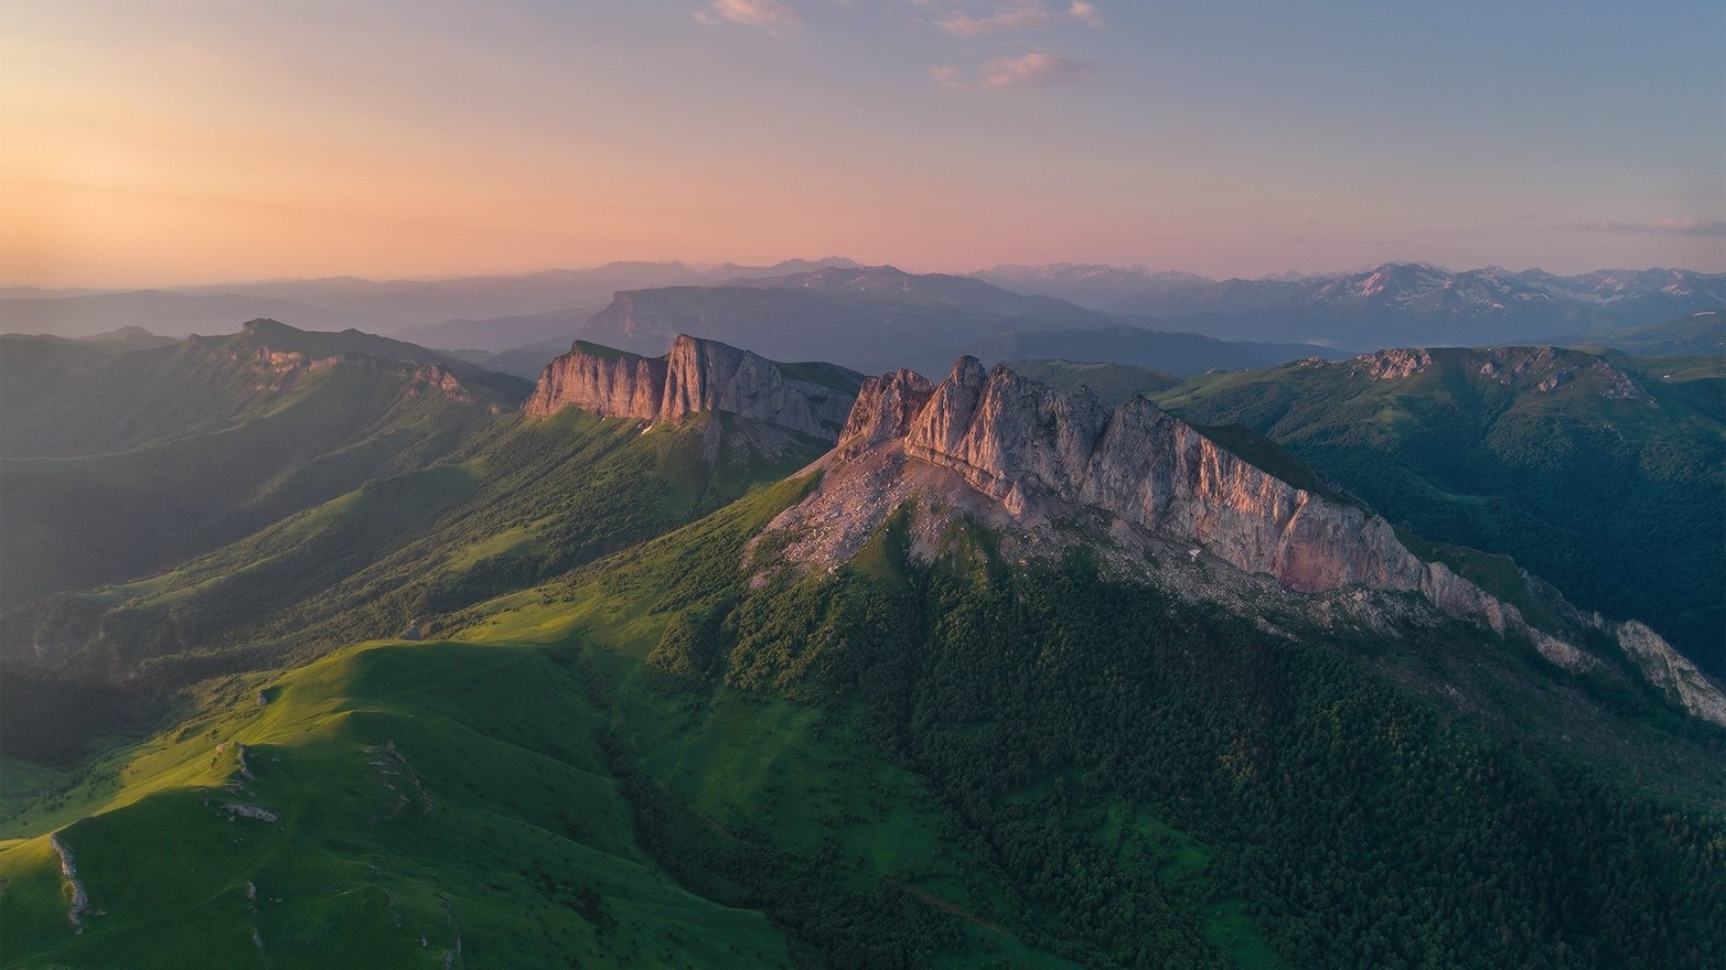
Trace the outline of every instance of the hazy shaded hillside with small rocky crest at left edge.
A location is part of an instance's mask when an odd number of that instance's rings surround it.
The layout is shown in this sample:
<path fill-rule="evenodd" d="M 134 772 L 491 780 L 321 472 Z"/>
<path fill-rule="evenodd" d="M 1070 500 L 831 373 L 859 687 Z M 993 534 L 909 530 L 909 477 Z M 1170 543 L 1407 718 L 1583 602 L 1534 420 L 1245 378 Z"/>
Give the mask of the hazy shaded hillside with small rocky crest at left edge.
<path fill-rule="evenodd" d="M 9 369 L 28 373 L 7 375 L 0 425 L 14 456 L 76 457 L 0 459 L 5 609 L 142 576 L 442 461 L 525 392 L 413 345 L 273 321 L 157 350 L 90 350 L 59 369 L 40 362 L 7 354 Z"/>

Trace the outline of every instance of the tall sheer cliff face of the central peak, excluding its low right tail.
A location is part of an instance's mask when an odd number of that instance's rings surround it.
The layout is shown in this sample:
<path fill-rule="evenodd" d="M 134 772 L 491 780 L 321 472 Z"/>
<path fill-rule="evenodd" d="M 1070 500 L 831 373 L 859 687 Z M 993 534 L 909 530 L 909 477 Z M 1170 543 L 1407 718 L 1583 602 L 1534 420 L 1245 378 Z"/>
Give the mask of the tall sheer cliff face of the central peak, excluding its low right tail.
<path fill-rule="evenodd" d="M 903 409 L 885 402 L 894 387 L 866 383 L 853 414 Z M 853 419 L 841 447 L 861 428 Z M 1110 413 L 1087 390 L 1061 395 L 963 357 L 904 421 L 903 447 L 1015 514 L 1044 499 L 1099 507 L 1300 592 L 1422 585 L 1424 564 L 1384 520 L 1296 488 L 1143 399 Z"/>

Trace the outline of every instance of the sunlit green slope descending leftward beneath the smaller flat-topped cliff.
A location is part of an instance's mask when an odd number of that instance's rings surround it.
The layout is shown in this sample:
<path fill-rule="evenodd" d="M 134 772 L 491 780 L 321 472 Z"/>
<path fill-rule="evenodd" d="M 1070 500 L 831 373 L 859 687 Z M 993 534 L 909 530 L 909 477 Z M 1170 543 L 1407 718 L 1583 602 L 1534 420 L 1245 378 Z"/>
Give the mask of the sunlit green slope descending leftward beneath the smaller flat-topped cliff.
<path fill-rule="evenodd" d="M 663 533 L 827 449 L 792 437 L 761 454 L 740 431 L 730 416 L 647 433 L 575 409 L 507 418 L 466 461 L 371 482 L 169 573 L 59 597 L 14 616 L 12 637 L 86 642 L 81 666 L 185 682 L 421 635 L 425 618 Z"/>

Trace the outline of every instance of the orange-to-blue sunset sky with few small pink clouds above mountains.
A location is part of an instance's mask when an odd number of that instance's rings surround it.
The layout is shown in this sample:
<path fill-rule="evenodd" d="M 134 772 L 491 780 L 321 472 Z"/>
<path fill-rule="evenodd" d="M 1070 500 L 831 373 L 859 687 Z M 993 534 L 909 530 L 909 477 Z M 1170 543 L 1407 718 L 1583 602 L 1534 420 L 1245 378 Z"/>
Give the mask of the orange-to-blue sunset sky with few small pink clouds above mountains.
<path fill-rule="evenodd" d="M 1721 50 L 1719 0 L 9 3 L 0 283 L 1719 273 Z"/>

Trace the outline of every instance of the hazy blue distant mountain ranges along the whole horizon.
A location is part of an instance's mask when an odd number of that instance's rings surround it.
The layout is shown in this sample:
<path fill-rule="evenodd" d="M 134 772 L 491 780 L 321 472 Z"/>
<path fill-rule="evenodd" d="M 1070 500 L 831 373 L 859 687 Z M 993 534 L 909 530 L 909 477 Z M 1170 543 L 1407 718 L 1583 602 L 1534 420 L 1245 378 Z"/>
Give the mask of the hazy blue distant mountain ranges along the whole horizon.
<path fill-rule="evenodd" d="M 753 288 L 804 295 L 740 292 Z M 682 262 L 614 262 L 440 281 L 333 278 L 135 292 L 14 287 L 0 302 L 0 326 L 9 333 L 83 337 L 142 326 L 178 337 L 221 333 L 231 321 L 268 316 L 311 330 L 388 333 L 466 350 L 469 359 L 487 359 L 482 352 L 516 352 L 509 357 L 514 373 L 532 376 L 544 361 L 516 361 L 518 349 L 535 347 L 530 356 L 540 356 L 545 345 L 568 347 L 587 338 L 659 354 L 678 330 L 708 333 L 701 326 L 706 316 L 721 330 L 711 333 L 716 338 L 799 359 L 825 356 L 863 369 L 934 362 L 934 357 L 892 361 L 884 347 L 901 356 L 953 356 L 972 350 L 972 340 L 1010 330 L 1134 326 L 1350 352 L 1569 343 L 1719 309 L 1726 305 L 1726 274 L 1641 269 L 1555 276 L 1538 269 L 1383 264 L 1334 274 L 1212 281 L 1096 264 L 998 266 L 970 276 L 910 274 L 828 257 L 704 269 Z M 815 333 L 799 335 L 794 328 L 794 319 L 827 323 L 841 316 L 842 326 L 822 333 L 830 342 L 825 345 Z"/>

